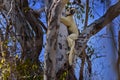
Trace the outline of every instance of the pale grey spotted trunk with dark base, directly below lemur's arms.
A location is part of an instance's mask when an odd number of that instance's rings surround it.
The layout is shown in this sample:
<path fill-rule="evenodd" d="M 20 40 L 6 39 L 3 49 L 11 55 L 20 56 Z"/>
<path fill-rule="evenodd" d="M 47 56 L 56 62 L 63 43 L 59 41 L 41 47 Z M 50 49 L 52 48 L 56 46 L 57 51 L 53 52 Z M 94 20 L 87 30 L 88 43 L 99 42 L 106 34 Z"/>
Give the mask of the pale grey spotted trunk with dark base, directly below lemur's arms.
<path fill-rule="evenodd" d="M 67 28 L 62 23 L 58 32 L 57 53 L 56 53 L 56 79 L 76 80 L 74 67 L 68 64 L 68 45 L 66 38 L 68 36 Z M 66 73 L 66 75 L 64 75 Z M 62 77 L 62 78 L 61 78 Z"/>

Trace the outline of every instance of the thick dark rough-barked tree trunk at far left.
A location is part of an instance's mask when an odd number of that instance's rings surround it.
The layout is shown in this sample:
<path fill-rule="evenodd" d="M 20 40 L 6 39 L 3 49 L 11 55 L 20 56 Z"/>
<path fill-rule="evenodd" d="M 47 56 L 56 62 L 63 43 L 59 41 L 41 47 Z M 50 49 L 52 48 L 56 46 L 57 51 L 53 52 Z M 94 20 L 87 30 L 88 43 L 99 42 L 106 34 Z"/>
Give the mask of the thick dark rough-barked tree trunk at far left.
<path fill-rule="evenodd" d="M 43 31 L 37 18 L 29 11 L 28 1 L 4 0 L 3 3 L 6 4 L 1 11 L 6 14 L 6 20 L 8 16 L 11 18 L 11 25 L 15 28 L 14 36 L 17 37 L 23 49 L 23 59 L 25 59 L 25 57 L 28 58 L 29 52 L 33 51 L 29 57 L 35 53 L 34 58 L 31 59 L 37 59 L 38 61 L 38 56 L 43 45 Z M 36 59 L 35 55 L 37 56 Z"/>

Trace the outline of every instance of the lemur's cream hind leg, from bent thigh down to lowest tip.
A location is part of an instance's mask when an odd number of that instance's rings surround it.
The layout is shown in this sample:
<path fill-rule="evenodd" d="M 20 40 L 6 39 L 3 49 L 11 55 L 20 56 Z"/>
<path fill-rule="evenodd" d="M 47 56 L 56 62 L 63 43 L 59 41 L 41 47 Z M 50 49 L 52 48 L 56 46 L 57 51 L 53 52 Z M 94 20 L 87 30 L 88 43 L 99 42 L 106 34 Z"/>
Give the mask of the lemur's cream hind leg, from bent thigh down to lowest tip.
<path fill-rule="evenodd" d="M 72 63 L 74 62 L 74 56 L 75 56 L 75 40 L 77 39 L 77 35 L 76 34 L 71 34 L 67 37 L 67 41 L 68 41 L 68 46 L 70 47 L 70 51 L 69 51 L 69 64 L 72 65 Z"/>

